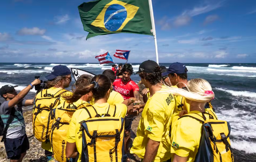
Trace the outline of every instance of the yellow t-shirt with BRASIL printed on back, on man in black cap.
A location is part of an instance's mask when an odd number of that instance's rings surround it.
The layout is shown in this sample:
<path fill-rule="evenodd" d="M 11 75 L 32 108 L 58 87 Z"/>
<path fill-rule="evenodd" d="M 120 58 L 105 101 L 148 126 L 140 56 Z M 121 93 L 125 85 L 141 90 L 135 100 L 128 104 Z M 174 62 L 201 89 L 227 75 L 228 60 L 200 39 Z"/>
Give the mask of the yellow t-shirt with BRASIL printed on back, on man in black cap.
<path fill-rule="evenodd" d="M 171 158 L 171 141 L 168 133 L 175 100 L 172 94 L 161 93 L 161 91 L 147 100 L 142 111 L 137 137 L 134 139 L 133 147 L 130 150 L 130 153 L 144 158 L 148 140 L 159 141 L 160 145 L 154 162 L 164 162 Z"/>

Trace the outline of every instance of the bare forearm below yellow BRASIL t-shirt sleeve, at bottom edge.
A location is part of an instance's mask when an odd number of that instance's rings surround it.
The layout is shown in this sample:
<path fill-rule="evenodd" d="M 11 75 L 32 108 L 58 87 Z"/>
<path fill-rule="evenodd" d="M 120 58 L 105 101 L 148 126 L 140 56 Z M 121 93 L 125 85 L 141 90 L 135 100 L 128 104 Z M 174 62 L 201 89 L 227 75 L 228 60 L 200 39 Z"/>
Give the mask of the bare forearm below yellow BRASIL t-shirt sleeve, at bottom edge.
<path fill-rule="evenodd" d="M 146 146 L 146 152 L 144 155 L 143 162 L 153 162 L 155 156 L 158 153 L 159 145 L 160 145 L 160 142 L 149 139 Z"/>

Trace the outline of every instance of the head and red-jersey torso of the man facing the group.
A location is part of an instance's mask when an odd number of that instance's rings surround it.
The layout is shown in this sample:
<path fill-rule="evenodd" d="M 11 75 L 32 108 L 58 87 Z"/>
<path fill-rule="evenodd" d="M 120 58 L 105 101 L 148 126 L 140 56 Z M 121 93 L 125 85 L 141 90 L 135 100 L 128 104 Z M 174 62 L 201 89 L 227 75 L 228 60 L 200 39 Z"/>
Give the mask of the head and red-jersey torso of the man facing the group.
<path fill-rule="evenodd" d="M 133 73 L 131 64 L 125 64 L 121 72 L 123 72 L 123 78 L 114 81 L 114 91 L 119 92 L 124 100 L 129 99 L 130 97 L 135 97 L 140 100 L 139 87 L 130 78 Z"/>

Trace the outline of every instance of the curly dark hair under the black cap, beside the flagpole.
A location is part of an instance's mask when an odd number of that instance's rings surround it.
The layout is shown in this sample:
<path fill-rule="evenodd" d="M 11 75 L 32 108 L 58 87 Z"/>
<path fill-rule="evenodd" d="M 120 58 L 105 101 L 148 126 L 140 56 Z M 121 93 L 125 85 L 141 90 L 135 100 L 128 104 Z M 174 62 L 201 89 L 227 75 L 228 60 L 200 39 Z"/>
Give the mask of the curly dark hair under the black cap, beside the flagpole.
<path fill-rule="evenodd" d="M 156 85 L 162 80 L 162 70 L 156 66 L 153 73 L 140 72 L 140 77 L 149 81 L 151 85 Z"/>

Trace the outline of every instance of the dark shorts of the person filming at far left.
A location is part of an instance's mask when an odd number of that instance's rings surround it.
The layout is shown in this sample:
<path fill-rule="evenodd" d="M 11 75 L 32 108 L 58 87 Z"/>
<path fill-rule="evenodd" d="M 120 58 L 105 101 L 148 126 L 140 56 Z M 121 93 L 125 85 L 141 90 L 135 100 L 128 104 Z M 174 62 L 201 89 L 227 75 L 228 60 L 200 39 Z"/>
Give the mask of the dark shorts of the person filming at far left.
<path fill-rule="evenodd" d="M 4 141 L 4 147 L 8 159 L 19 160 L 22 153 L 29 149 L 28 136 L 25 134 L 16 139 L 7 139 Z"/>

